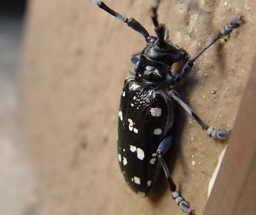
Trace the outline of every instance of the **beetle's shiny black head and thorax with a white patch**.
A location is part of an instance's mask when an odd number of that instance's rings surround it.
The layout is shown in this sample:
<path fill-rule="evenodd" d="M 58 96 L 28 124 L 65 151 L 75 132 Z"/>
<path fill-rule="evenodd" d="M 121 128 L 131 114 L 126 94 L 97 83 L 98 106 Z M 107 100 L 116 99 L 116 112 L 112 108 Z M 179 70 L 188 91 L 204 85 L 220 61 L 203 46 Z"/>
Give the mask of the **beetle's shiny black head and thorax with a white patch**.
<path fill-rule="evenodd" d="M 139 65 L 136 67 L 136 81 L 146 83 L 151 87 L 160 87 L 172 77 L 173 63 L 182 60 L 185 51 L 172 44 L 166 43 L 159 47 L 156 42 L 149 42 L 142 51 Z"/>

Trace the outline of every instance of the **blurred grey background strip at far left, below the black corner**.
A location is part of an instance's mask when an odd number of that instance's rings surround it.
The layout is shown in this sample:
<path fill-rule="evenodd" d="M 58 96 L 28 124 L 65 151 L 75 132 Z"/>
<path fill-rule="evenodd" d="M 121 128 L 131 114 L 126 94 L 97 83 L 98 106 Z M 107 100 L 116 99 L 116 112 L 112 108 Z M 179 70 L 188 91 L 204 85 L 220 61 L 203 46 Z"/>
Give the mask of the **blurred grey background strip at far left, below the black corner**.
<path fill-rule="evenodd" d="M 0 16 L 0 214 L 34 215 L 33 172 L 18 120 L 22 18 Z"/>

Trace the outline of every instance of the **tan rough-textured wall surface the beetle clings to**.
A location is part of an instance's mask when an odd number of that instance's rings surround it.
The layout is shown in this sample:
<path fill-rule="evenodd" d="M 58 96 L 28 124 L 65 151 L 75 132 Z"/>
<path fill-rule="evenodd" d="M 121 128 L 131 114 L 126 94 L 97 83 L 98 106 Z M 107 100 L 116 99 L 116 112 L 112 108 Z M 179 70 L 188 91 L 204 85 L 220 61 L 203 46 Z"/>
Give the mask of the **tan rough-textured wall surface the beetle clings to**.
<path fill-rule="evenodd" d="M 105 1 L 153 33 L 151 1 Z M 232 128 L 255 54 L 255 1 L 164 1 L 160 21 L 193 55 L 235 15 L 248 23 L 219 42 L 180 86 L 205 121 Z M 119 172 L 117 112 L 130 55 L 144 39 L 89 1 L 31 1 L 24 43 L 22 110 L 37 180 L 40 214 L 175 214 L 164 178 L 150 198 L 136 196 Z M 193 77 L 192 77 L 193 76 Z M 216 94 L 212 94 L 216 90 Z M 178 109 L 169 163 L 197 214 L 224 145 Z M 175 162 L 174 162 L 175 161 Z"/>

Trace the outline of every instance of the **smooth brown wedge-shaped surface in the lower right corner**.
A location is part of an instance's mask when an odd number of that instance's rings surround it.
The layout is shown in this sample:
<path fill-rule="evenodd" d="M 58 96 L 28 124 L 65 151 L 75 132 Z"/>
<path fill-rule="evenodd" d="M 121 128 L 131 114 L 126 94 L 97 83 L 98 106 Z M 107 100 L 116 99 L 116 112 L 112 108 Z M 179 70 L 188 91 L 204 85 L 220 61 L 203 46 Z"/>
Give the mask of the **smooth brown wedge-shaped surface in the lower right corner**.
<path fill-rule="evenodd" d="M 229 139 L 230 144 L 204 215 L 255 215 L 255 92 L 256 58 Z"/>

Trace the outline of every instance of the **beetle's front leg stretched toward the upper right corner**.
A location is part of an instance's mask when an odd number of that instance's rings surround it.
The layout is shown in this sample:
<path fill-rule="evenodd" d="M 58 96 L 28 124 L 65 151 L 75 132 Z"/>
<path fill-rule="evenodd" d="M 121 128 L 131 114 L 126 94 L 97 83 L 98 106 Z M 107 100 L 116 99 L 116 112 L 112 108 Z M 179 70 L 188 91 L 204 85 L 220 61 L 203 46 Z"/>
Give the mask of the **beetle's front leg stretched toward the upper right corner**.
<path fill-rule="evenodd" d="M 193 58 L 190 58 L 186 64 L 184 65 L 184 67 L 181 69 L 180 73 L 176 75 L 176 81 L 181 80 L 186 74 L 189 73 L 189 71 L 191 70 L 191 68 L 194 65 L 194 61 L 200 56 L 202 55 L 202 53 L 204 53 L 208 48 L 210 48 L 210 46 L 212 46 L 212 44 L 214 44 L 217 40 L 221 39 L 223 36 L 225 35 L 230 35 L 230 33 L 234 30 L 234 28 L 238 28 L 239 26 L 241 26 L 242 24 L 245 23 L 245 18 L 244 16 L 240 16 L 240 17 L 234 17 L 233 19 L 231 19 L 230 22 L 228 22 L 228 24 L 226 24 L 222 29 L 221 32 L 216 33 L 216 35 L 214 35 L 206 44 L 204 44 L 201 49 L 199 49 L 199 51 L 196 53 L 196 55 L 194 55 Z"/>

